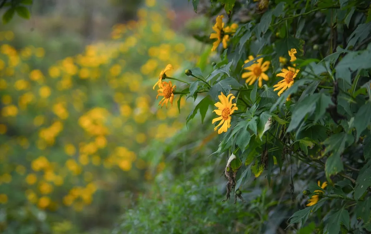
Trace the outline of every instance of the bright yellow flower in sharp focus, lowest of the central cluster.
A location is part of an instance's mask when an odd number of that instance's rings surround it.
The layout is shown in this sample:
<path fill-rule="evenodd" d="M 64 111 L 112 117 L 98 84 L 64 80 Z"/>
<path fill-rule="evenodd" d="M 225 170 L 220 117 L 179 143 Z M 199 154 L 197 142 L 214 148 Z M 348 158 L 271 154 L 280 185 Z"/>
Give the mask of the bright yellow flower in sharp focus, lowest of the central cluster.
<path fill-rule="evenodd" d="M 234 111 L 238 110 L 236 103 L 232 104 L 232 100 L 236 98 L 235 96 L 233 96 L 232 93 L 230 93 L 228 96 L 225 96 L 222 92 L 220 92 L 220 94 L 221 95 L 218 96 L 220 102 L 214 104 L 214 106 L 216 106 L 218 109 L 213 111 L 217 115 L 220 115 L 220 117 L 213 119 L 212 122 L 215 123 L 216 121 L 221 120 L 219 124 L 214 128 L 214 131 L 216 131 L 216 129 L 223 124 L 219 128 L 218 134 L 227 132 L 228 128 L 231 126 L 230 122 L 232 118 L 230 115 L 232 115 Z"/>

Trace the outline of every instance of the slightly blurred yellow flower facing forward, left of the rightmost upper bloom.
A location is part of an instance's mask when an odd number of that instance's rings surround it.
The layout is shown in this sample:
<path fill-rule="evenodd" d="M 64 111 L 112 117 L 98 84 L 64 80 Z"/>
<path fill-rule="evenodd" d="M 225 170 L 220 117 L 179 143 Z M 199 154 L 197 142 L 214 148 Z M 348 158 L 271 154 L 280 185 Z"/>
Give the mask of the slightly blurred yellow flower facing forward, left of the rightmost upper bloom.
<path fill-rule="evenodd" d="M 254 57 L 250 55 L 249 59 L 247 59 L 245 61 L 245 64 L 250 62 L 253 59 L 254 59 Z M 249 85 L 252 85 L 253 83 L 255 83 L 256 79 L 259 78 L 258 85 L 259 85 L 259 87 L 262 87 L 263 80 L 268 80 L 269 79 L 267 74 L 265 74 L 264 72 L 266 72 L 266 70 L 268 70 L 270 62 L 265 61 L 263 64 L 262 64 L 262 62 L 263 62 L 263 58 L 258 59 L 257 63 L 253 63 L 253 65 L 244 68 L 245 70 L 249 70 L 249 72 L 242 73 L 242 78 L 243 79 L 247 78 L 246 83 L 249 82 Z"/>

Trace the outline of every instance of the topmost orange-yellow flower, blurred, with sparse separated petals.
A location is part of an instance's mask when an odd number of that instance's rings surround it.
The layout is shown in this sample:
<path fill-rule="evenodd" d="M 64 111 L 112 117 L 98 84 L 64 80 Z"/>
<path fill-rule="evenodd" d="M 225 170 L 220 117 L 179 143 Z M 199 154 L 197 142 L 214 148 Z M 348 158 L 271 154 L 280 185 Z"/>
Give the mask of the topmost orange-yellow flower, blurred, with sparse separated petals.
<path fill-rule="evenodd" d="M 213 48 L 211 48 L 211 51 L 215 51 L 220 42 L 223 44 L 223 48 L 226 49 L 227 42 L 229 41 L 229 34 L 225 35 L 225 33 L 234 33 L 238 27 L 236 23 L 233 23 L 231 26 L 224 27 L 223 17 L 223 15 L 216 17 L 216 23 L 213 27 L 215 33 L 210 34 L 210 39 L 217 40 L 213 43 Z"/>

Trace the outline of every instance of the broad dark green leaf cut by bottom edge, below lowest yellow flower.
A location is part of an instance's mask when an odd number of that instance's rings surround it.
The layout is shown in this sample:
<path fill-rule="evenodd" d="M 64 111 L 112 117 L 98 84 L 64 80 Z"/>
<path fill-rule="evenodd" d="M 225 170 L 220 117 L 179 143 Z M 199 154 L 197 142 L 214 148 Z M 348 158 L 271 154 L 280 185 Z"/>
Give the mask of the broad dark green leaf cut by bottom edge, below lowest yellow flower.
<path fill-rule="evenodd" d="M 327 218 L 324 233 L 339 234 L 341 224 L 344 224 L 344 226 L 349 229 L 349 220 L 349 212 L 344 208 L 332 213 Z"/>

